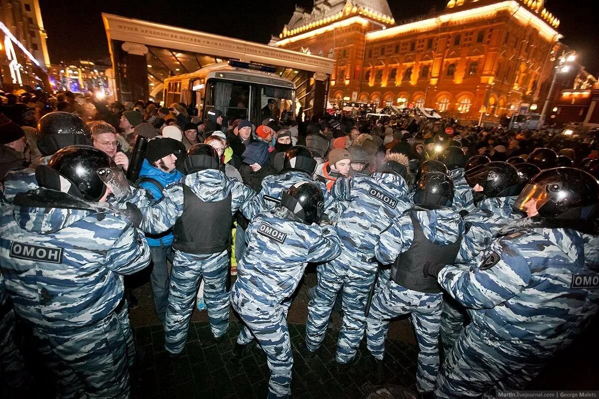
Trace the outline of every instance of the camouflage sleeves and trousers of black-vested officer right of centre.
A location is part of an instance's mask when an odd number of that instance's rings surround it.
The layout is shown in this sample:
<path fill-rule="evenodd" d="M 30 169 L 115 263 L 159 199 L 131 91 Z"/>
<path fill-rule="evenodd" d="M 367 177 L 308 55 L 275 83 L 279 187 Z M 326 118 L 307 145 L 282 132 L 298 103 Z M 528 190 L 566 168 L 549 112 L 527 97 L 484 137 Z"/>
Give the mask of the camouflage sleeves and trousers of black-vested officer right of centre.
<path fill-rule="evenodd" d="M 450 245 L 464 232 L 464 223 L 453 209 L 435 209 L 413 213 L 426 239 L 437 245 Z M 394 220 L 389 229 L 380 234 L 375 254 L 383 264 L 394 263 L 407 251 L 414 239 L 414 227 L 409 214 Z M 401 267 L 401 265 L 399 266 Z M 379 359 L 385 352 L 385 338 L 389 320 L 412 313 L 416 331 L 418 370 L 416 384 L 419 392 L 432 392 L 439 369 L 439 328 L 443 294 L 420 293 L 388 281 L 373 298 L 368 315 L 366 339 L 368 350 Z"/>

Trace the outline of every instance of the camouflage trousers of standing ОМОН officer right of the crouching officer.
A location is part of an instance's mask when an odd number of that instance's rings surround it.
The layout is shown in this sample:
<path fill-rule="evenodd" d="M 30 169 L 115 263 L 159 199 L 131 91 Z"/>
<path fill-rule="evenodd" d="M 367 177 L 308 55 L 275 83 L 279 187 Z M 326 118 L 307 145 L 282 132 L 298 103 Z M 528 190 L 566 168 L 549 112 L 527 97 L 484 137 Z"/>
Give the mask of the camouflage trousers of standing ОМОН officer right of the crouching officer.
<path fill-rule="evenodd" d="M 308 302 L 305 325 L 305 344 L 310 351 L 316 351 L 325 338 L 335 297 L 343 289 L 343 322 L 335 361 L 349 363 L 356 356 L 366 327 L 366 302 L 374 284 L 375 273 L 364 270 L 368 267 L 373 267 L 373 264 L 349 257 L 344 251 L 339 257 L 318 267 L 316 293 Z"/>

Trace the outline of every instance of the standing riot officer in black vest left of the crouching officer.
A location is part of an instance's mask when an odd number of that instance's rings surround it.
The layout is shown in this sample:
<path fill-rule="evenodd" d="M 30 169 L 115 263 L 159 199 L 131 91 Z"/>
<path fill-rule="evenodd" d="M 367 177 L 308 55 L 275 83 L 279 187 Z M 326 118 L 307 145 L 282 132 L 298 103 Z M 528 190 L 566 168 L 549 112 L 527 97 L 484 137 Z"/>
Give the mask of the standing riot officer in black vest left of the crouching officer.
<path fill-rule="evenodd" d="M 220 170 L 220 157 L 211 145 L 195 144 L 187 150 L 187 175 L 164 193 L 173 206 L 167 225 L 173 226 L 173 268 L 165 318 L 165 348 L 180 354 L 187 341 L 189 319 L 199 281 L 204 279 L 204 300 L 214 338 L 229 327 L 226 292 L 229 236 L 232 215 L 246 217 L 255 192 Z"/>

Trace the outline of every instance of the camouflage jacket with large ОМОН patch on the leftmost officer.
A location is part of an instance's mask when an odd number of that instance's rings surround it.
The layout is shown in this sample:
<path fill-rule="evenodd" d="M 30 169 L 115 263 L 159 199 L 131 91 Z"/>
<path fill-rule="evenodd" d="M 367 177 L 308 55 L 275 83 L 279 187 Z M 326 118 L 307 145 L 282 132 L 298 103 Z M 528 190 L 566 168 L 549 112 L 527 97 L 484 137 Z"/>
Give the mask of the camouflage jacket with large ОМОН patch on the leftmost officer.
<path fill-rule="evenodd" d="M 16 312 L 56 331 L 110 315 L 123 297 L 121 275 L 146 267 L 150 251 L 120 212 L 38 188 L 4 209 L 0 260 Z"/>

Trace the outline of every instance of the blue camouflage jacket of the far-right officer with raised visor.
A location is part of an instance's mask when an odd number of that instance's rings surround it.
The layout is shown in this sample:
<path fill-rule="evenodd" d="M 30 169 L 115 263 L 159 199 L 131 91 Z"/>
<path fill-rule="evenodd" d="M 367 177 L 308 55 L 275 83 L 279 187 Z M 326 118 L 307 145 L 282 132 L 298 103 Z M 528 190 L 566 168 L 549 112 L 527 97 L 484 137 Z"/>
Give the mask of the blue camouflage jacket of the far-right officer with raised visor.
<path fill-rule="evenodd" d="M 438 282 L 470 308 L 472 323 L 500 340 L 533 342 L 555 349 L 596 311 L 597 288 L 585 288 L 584 234 L 573 229 L 531 229 L 495 240 L 469 270 L 447 266 Z M 595 253 L 596 255 L 596 253 Z M 596 261 L 596 257 L 593 259 Z"/>

